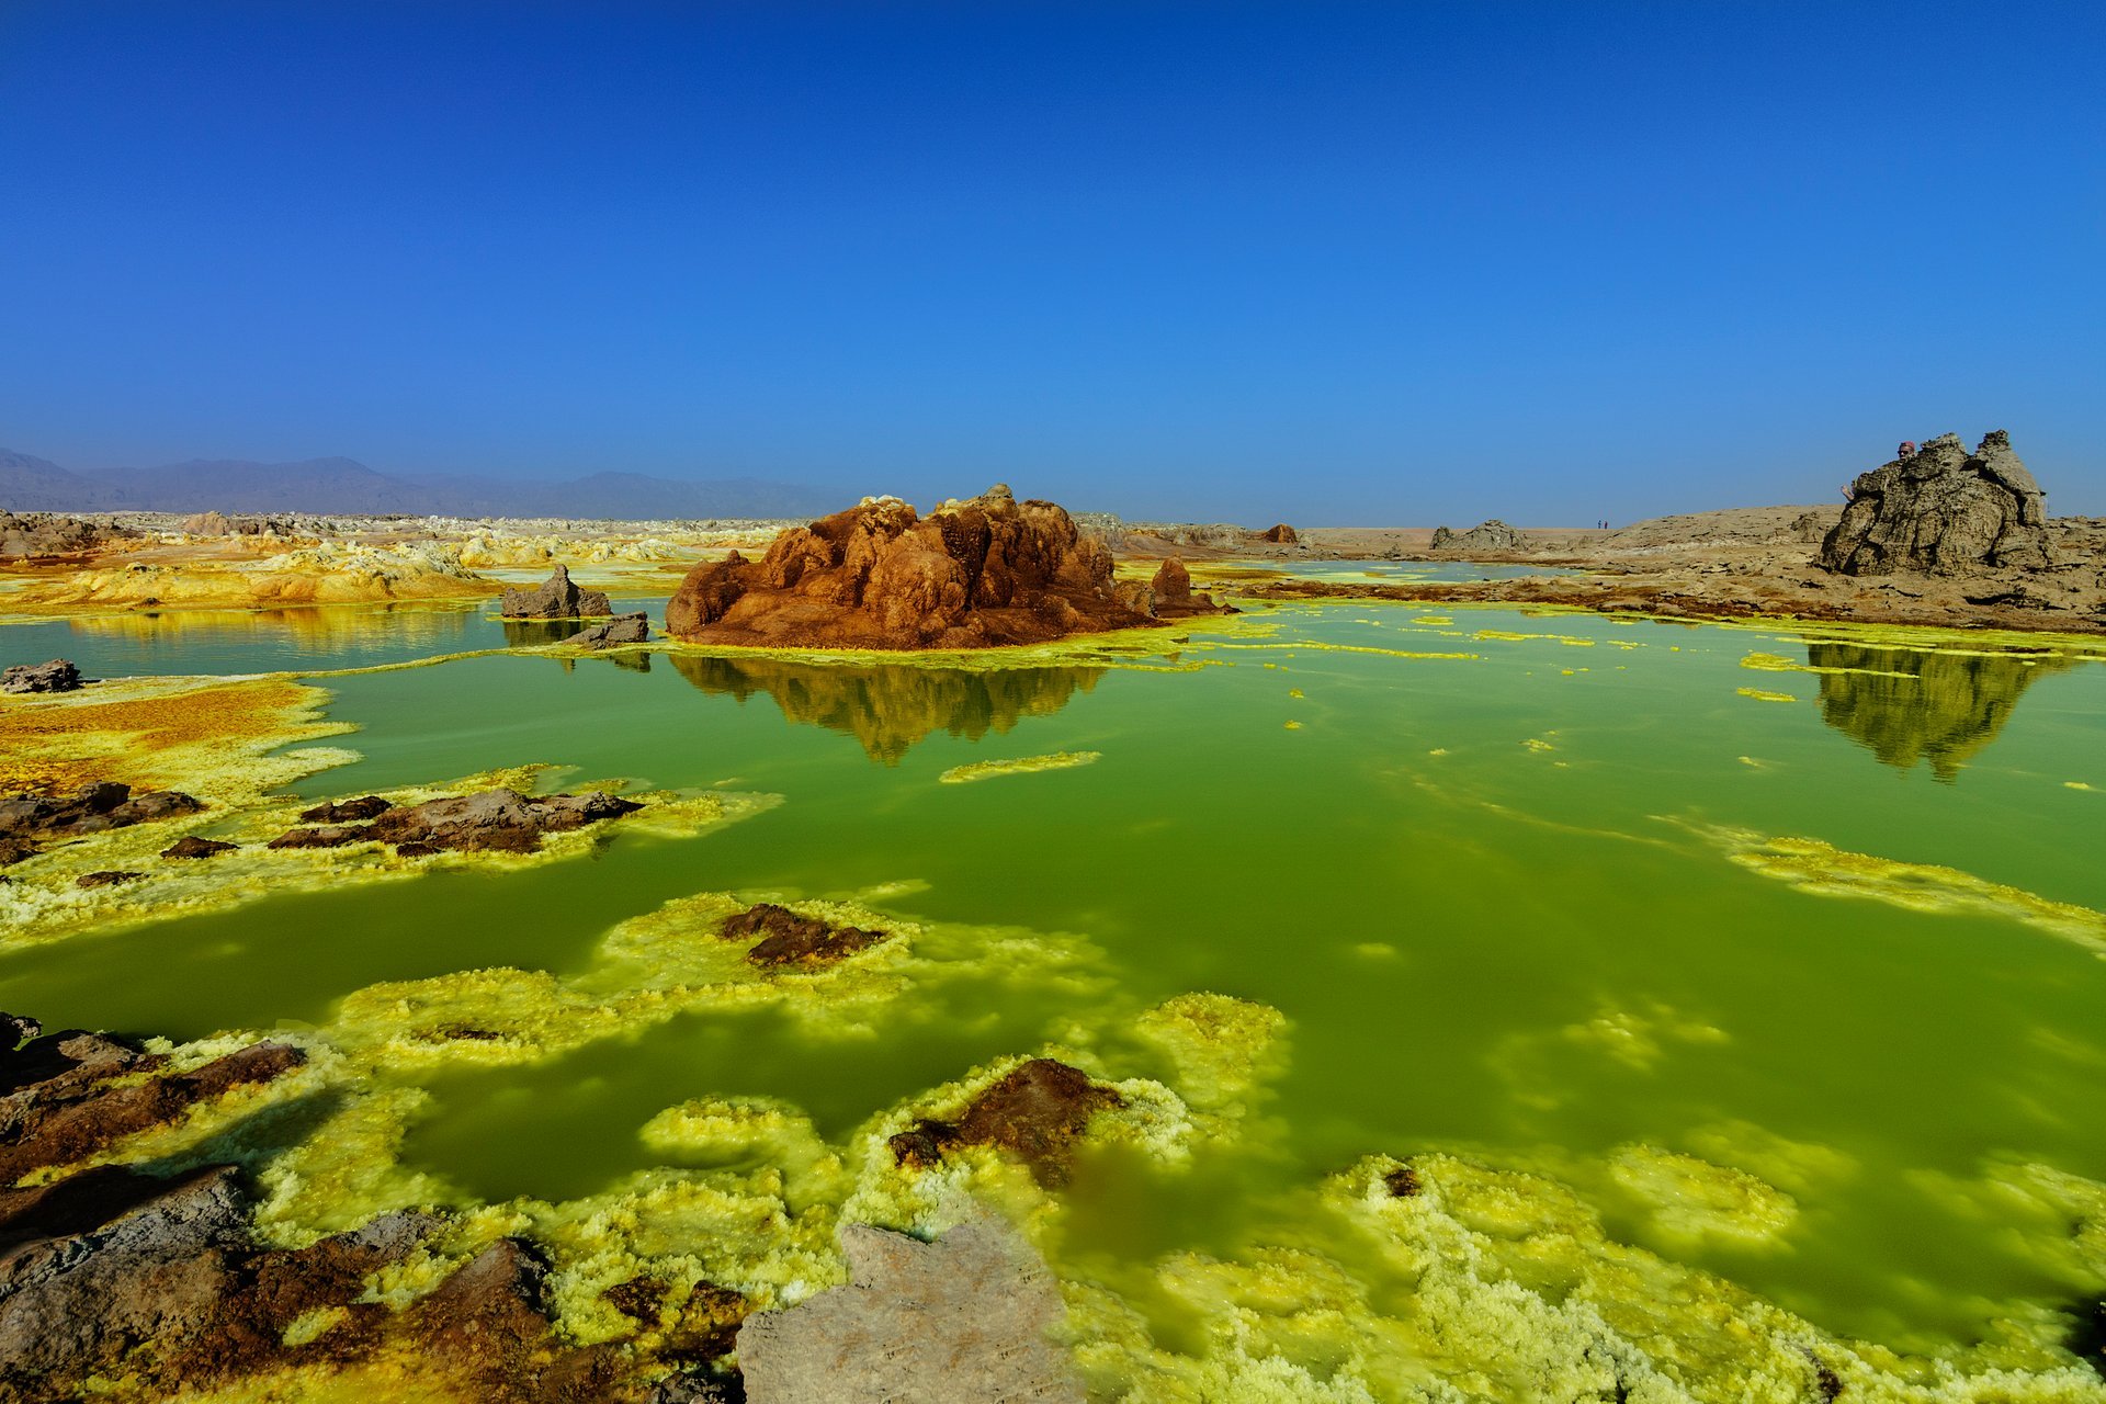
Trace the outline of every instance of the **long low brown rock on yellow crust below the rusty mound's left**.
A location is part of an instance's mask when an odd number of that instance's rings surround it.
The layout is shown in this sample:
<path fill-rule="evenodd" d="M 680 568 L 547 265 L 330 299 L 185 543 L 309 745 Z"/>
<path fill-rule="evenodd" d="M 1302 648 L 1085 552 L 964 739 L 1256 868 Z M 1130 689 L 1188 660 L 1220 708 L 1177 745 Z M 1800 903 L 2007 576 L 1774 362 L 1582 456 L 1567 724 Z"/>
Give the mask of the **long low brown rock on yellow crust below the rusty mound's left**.
<path fill-rule="evenodd" d="M 379 796 L 318 804 L 301 819 L 312 827 L 286 829 L 272 848 L 341 848 L 345 844 L 394 844 L 402 857 L 432 853 L 533 853 L 543 834 L 581 829 L 588 823 L 634 815 L 642 804 L 590 791 L 581 796 L 522 796 L 516 789 L 482 789 L 423 804 L 390 806 Z M 337 819 L 371 819 L 339 823 Z"/>

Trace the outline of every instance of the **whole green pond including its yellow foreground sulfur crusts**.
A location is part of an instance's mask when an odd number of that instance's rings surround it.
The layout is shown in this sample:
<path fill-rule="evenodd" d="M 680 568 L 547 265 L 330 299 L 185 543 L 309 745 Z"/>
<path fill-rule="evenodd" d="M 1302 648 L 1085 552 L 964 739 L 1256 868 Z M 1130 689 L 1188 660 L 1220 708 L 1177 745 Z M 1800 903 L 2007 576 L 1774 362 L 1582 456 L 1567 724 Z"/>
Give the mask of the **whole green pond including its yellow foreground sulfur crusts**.
<path fill-rule="evenodd" d="M 2106 1398 L 2095 646 L 1371 602 L 948 661 L 550 642 L 0 627 L 137 705 L 274 688 L 278 733 L 162 779 L 280 817 L 478 777 L 691 817 L 48 899 L 23 865 L 0 1006 L 303 1042 L 297 1101 L 190 1132 L 276 1231 L 539 1225 L 585 1339 L 636 1261 L 786 1305 L 838 1221 L 971 1202 L 1047 1257 L 1101 1398 L 1622 1398 L 1558 1391 L 1615 1351 L 1664 1381 L 1630 1398 Z M 889 939 L 733 977 L 714 922 L 760 901 Z M 1024 1057 L 1122 1090 L 1064 1183 L 893 1164 Z"/>

